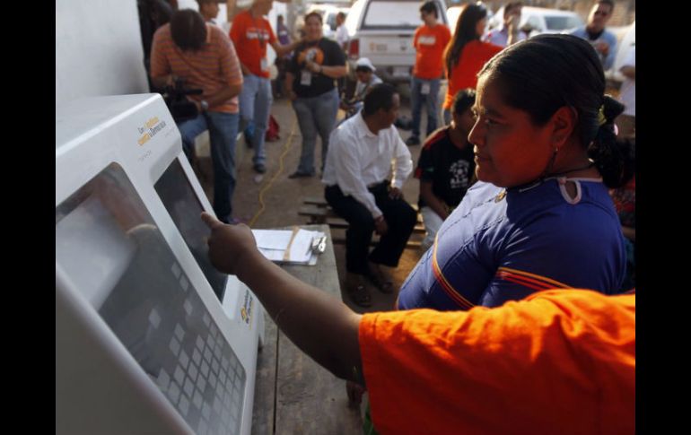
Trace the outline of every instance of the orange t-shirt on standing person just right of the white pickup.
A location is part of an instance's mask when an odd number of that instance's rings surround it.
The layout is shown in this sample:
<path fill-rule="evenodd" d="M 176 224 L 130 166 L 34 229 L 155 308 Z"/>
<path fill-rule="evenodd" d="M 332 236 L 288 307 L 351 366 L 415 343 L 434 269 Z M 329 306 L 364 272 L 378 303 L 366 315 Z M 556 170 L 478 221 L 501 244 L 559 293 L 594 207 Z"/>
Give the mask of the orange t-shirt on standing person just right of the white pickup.
<path fill-rule="evenodd" d="M 429 27 L 426 24 L 415 30 L 413 47 L 415 47 L 415 77 L 433 80 L 442 76 L 444 71 L 444 48 L 451 39 L 451 32 L 444 24 Z"/>

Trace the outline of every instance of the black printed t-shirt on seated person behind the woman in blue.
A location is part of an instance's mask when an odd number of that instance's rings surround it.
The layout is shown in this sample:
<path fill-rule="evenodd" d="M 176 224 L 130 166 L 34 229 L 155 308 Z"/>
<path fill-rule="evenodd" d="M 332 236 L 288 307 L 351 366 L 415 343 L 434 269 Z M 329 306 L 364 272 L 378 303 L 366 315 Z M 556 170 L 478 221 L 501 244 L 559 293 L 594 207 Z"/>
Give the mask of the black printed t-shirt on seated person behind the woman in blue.
<path fill-rule="evenodd" d="M 424 142 L 420 159 L 417 161 L 415 178 L 432 182 L 434 196 L 450 207 L 456 207 L 466 195 L 475 173 L 473 146 L 459 148 L 451 142 L 449 126 L 443 126 Z M 418 201 L 424 207 L 423 197 Z"/>

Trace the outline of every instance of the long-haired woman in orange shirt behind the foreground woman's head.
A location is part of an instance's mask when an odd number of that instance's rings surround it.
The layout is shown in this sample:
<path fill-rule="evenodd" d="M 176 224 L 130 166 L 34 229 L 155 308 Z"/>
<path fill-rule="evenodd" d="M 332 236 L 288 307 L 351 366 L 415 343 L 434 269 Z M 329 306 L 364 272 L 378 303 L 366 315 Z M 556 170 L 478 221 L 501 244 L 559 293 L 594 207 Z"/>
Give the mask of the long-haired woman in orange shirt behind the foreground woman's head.
<path fill-rule="evenodd" d="M 444 122 L 451 122 L 451 103 L 458 91 L 475 89 L 477 73 L 502 47 L 480 40 L 487 24 L 487 10 L 479 4 L 468 4 L 460 13 L 459 22 L 449 45 L 444 50 L 444 66 L 449 85 L 444 99 Z M 509 36 L 509 45 L 513 35 Z"/>

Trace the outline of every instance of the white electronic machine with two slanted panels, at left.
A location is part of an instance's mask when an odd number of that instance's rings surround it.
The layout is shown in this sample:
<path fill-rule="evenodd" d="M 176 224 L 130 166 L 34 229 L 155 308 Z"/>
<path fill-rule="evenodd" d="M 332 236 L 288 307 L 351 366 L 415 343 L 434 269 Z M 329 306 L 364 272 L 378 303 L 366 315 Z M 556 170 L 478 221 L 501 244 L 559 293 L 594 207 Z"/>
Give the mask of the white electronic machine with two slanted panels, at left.
<path fill-rule="evenodd" d="M 249 434 L 264 310 L 161 96 L 56 112 L 56 433 Z"/>

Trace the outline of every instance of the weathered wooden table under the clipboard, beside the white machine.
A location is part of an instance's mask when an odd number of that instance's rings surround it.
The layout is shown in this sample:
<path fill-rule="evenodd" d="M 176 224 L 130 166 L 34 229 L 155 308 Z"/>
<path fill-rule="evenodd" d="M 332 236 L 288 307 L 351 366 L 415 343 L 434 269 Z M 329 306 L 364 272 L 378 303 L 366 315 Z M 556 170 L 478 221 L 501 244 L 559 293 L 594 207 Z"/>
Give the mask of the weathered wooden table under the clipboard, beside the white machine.
<path fill-rule="evenodd" d="M 327 225 L 302 228 L 329 235 Z M 317 265 L 281 265 L 281 268 L 303 283 L 341 300 L 336 255 L 329 239 Z M 266 314 L 265 321 L 264 345 L 257 355 L 251 433 L 362 435 L 360 413 L 348 406 L 346 381 L 302 352 Z"/>

